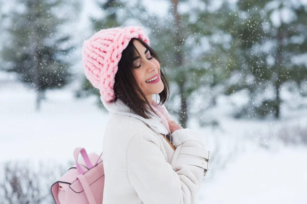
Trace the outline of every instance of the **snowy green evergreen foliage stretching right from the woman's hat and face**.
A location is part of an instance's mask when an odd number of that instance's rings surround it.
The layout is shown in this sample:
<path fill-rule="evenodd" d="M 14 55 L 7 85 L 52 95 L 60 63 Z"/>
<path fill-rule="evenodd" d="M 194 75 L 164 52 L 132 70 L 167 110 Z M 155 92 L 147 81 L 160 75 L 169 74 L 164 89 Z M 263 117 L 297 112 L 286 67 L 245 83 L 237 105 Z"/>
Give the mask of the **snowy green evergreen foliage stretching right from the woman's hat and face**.
<path fill-rule="evenodd" d="M 140 2 L 127 7 L 122 1 L 107 1 L 100 4 L 104 16 L 93 20 L 94 28 L 98 31 L 125 25 L 133 19 L 149 31 L 150 45 L 160 56 L 174 87 L 170 103 L 181 99 L 180 107 L 170 106 L 169 110 L 179 117 L 188 118 L 193 93 L 209 89 L 213 101 L 220 94 L 247 90 L 249 102 L 238 109 L 235 117 L 278 118 L 281 104 L 287 103 L 280 98 L 281 87 L 289 81 L 300 87 L 306 80 L 306 64 L 293 60 L 307 52 L 306 7 L 268 0 L 224 1 L 215 10 L 207 7 L 214 1 L 200 1 L 196 8 L 190 8 L 188 1 L 179 4 L 187 8 L 176 21 L 173 5 L 161 17 L 147 11 Z M 272 15 L 282 8 L 290 9 L 295 18 L 276 25 Z M 83 87 L 93 92 L 91 86 Z M 264 92 L 272 87 L 275 93 L 266 98 Z M 185 116 L 180 115 L 183 111 Z"/>

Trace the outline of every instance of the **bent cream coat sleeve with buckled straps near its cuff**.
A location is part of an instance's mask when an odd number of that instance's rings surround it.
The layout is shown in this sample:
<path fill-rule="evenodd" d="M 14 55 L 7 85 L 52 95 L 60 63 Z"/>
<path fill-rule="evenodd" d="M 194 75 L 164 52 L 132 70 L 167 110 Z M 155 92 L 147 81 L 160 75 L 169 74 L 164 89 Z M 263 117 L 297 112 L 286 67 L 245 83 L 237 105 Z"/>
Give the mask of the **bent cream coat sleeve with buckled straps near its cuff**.
<path fill-rule="evenodd" d="M 127 149 L 127 174 L 130 184 L 146 204 L 190 204 L 198 199 L 204 169 L 203 146 L 187 141 L 178 146 L 169 164 L 155 135 L 140 133 Z"/>

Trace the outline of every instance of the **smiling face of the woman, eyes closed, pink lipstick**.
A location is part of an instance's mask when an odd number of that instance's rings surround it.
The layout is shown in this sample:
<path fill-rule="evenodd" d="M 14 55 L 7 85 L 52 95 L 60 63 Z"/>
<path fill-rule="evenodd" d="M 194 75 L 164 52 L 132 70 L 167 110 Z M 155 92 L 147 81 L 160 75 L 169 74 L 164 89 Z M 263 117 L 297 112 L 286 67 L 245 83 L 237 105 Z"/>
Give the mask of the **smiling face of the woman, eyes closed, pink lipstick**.
<path fill-rule="evenodd" d="M 163 82 L 160 78 L 160 63 L 151 57 L 149 50 L 141 42 L 134 40 L 133 44 L 140 53 L 138 59 L 135 59 L 133 63 L 134 77 L 151 104 L 152 94 L 159 94 L 164 89 Z M 155 80 L 151 81 L 152 79 Z"/>

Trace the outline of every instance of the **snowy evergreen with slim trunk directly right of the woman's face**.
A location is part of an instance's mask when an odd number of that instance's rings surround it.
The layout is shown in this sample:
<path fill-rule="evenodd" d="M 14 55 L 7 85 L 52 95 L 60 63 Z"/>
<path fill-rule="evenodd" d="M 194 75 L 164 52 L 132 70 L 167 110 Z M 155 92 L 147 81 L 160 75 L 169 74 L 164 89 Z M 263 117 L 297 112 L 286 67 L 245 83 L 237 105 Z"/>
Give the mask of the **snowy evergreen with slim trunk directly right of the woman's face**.
<path fill-rule="evenodd" d="M 176 98 L 180 98 L 179 107 L 172 105 L 169 110 L 179 117 L 184 127 L 187 126 L 190 114 L 204 124 L 204 112 L 215 105 L 215 97 L 223 92 L 221 85 L 238 69 L 234 64 L 236 56 L 232 54 L 231 46 L 228 48 L 225 45 L 227 42 L 223 35 L 226 33 L 218 28 L 218 23 L 226 24 L 233 18 L 227 19 L 228 16 L 224 15 L 227 13 L 225 10 L 229 10 L 226 6 L 212 11 L 209 3 L 201 1 L 196 4 L 198 6 L 190 6 L 188 1 L 170 3 L 170 15 L 162 19 L 153 15 L 142 23 L 150 27 L 152 46 L 163 56 L 162 61 L 172 84 L 170 103 L 174 104 Z M 185 12 L 178 11 L 180 4 L 186 8 Z M 214 40 L 216 35 L 221 36 L 221 40 Z M 229 63 L 231 60 L 232 63 Z M 202 95 L 203 89 L 210 90 L 207 93 L 211 95 Z M 203 103 L 196 107 L 196 112 L 192 112 L 195 107 L 192 95 L 195 93 L 203 101 L 211 99 L 206 105 Z"/>

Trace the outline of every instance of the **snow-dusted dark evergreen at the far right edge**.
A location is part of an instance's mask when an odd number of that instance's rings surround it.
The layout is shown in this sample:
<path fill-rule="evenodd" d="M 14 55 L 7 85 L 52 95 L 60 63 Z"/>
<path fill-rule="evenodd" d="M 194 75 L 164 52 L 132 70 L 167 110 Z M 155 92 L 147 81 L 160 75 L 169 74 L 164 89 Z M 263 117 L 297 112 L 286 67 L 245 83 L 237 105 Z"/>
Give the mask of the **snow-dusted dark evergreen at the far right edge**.
<path fill-rule="evenodd" d="M 226 93 L 249 91 L 250 102 L 240 110 L 239 117 L 272 115 L 279 118 L 281 86 L 286 82 L 300 84 L 306 79 L 306 65 L 293 61 L 293 57 L 306 53 L 306 7 L 289 1 L 242 1 L 237 6 L 236 13 L 241 15 L 230 24 L 229 32 L 241 77 Z M 282 11 L 292 14 L 288 21 L 286 16 L 289 15 L 282 17 Z M 266 98 L 264 92 L 270 88 L 274 90 L 274 97 Z"/>

